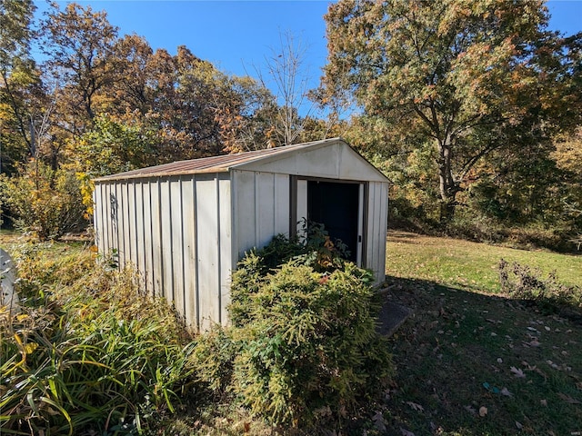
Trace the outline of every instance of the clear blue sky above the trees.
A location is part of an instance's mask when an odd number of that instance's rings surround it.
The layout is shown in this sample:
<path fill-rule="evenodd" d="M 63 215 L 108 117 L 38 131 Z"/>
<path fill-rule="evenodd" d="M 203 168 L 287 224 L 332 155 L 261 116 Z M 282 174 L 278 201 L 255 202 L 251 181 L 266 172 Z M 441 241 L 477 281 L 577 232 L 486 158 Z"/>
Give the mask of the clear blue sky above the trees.
<path fill-rule="evenodd" d="M 61 5 L 69 2 L 59 1 Z M 280 47 L 280 35 L 290 32 L 305 47 L 306 75 L 315 87 L 326 63 L 328 0 L 77 0 L 105 10 L 120 35 L 144 36 L 156 50 L 176 53 L 186 45 L 196 56 L 227 74 L 256 75 L 266 56 Z M 44 0 L 35 0 L 39 10 Z M 582 31 L 582 0 L 547 2 L 550 28 L 567 35 Z"/>

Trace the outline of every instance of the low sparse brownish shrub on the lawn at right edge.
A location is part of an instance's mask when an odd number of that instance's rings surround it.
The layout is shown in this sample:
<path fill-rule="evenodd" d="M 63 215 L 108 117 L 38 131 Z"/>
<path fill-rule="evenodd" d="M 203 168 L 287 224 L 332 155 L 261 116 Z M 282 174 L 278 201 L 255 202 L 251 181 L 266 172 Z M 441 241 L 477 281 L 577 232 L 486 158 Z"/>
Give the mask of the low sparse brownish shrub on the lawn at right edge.
<path fill-rule="evenodd" d="M 510 297 L 534 302 L 547 312 L 569 309 L 582 316 L 582 289 L 559 282 L 556 272 L 544 279 L 538 269 L 517 262 L 509 265 L 504 259 L 499 261 L 498 270 L 501 290 Z"/>

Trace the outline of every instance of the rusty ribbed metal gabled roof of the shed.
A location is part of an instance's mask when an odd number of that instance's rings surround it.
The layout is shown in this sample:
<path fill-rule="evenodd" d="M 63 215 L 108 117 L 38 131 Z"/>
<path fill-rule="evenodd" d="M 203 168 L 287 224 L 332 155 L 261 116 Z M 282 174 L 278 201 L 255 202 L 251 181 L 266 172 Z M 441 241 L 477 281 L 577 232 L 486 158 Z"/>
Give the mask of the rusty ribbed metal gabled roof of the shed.
<path fill-rule="evenodd" d="M 193 159 L 189 161 L 180 161 L 174 163 L 165 163 L 162 165 L 150 166 L 138 170 L 127 171 L 125 173 L 117 173 L 106 175 L 95 179 L 95 182 L 105 182 L 123 179 L 135 179 L 143 177 L 164 177 L 180 174 L 196 174 L 196 173 L 227 173 L 233 169 L 253 170 L 256 164 L 261 166 L 266 163 L 285 159 L 290 154 L 297 154 L 301 151 L 316 150 L 329 145 L 343 144 L 359 159 L 363 160 L 367 165 L 374 169 L 376 174 L 375 179 L 379 175 L 383 181 L 388 181 L 386 176 L 380 173 L 374 165 L 368 163 L 364 157 L 357 154 L 346 142 L 341 138 L 324 139 L 321 141 L 314 141 L 311 143 L 287 145 L 284 147 L 269 148 L 265 150 L 256 150 L 252 152 L 244 152 L 238 154 L 225 154 L 220 156 L 204 157 L 201 159 Z"/>

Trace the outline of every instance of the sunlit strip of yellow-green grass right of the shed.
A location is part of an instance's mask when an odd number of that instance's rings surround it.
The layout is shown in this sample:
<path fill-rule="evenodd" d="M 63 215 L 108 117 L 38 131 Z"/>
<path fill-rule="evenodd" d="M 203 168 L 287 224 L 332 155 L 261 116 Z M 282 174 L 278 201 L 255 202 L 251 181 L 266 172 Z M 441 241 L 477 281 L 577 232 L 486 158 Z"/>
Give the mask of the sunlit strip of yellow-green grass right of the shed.
<path fill-rule="evenodd" d="M 403 232 L 388 234 L 386 273 L 478 292 L 499 292 L 497 265 L 501 258 L 539 268 L 544 276 L 556 271 L 562 282 L 582 286 L 582 255 L 528 252 Z"/>

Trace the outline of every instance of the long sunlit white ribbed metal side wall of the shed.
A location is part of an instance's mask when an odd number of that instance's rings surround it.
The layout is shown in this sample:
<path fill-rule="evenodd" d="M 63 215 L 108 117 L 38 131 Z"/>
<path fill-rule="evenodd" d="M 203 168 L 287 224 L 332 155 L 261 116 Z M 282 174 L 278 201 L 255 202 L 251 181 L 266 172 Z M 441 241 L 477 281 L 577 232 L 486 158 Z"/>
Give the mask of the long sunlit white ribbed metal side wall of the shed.
<path fill-rule="evenodd" d="M 228 322 L 232 255 L 227 173 L 95 183 L 95 241 L 133 264 L 148 292 L 202 329 Z"/>

